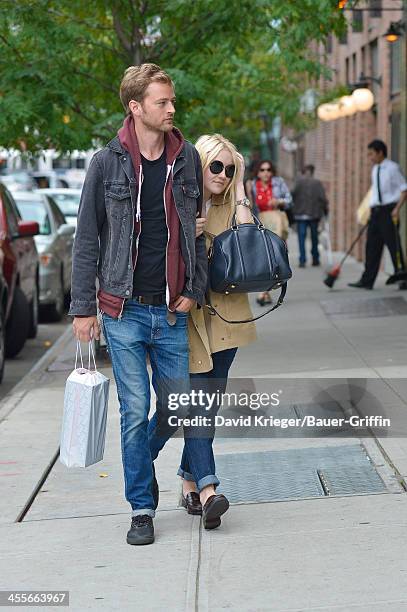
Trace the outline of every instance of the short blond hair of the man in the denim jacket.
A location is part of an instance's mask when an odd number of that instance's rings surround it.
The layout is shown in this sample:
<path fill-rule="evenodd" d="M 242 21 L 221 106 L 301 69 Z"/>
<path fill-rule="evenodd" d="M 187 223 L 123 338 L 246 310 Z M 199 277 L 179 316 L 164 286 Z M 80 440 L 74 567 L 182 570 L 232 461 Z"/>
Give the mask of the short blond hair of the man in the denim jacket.
<path fill-rule="evenodd" d="M 129 66 L 125 70 L 120 83 L 120 100 L 126 114 L 130 114 L 130 100 L 136 100 L 136 102 L 144 100 L 146 89 L 150 83 L 166 83 L 174 87 L 171 77 L 164 70 L 161 70 L 157 64 Z"/>

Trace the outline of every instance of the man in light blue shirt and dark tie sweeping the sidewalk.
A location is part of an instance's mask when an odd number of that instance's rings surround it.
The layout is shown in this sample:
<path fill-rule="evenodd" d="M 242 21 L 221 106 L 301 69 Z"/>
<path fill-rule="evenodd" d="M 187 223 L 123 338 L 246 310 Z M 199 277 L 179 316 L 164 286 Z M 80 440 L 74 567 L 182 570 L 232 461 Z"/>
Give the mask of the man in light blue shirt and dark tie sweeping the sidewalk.
<path fill-rule="evenodd" d="M 397 223 L 400 208 L 407 198 L 406 179 L 399 165 L 387 159 L 387 147 L 382 140 L 373 140 L 368 145 L 368 157 L 373 168 L 365 271 L 359 281 L 349 283 L 349 287 L 360 289 L 373 289 L 384 245 L 389 249 L 394 269 L 397 270 L 397 251 L 400 251 Z M 404 267 L 401 251 L 400 258 Z"/>

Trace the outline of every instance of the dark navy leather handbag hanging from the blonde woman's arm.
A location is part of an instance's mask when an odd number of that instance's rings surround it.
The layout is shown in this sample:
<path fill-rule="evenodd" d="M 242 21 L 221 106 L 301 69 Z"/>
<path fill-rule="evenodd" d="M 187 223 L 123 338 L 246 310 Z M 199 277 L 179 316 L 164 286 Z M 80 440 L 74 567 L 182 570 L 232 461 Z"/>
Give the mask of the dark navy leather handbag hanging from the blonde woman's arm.
<path fill-rule="evenodd" d="M 250 323 L 269 314 L 284 301 L 287 281 L 292 276 L 285 241 L 253 216 L 254 223 L 236 222 L 230 229 L 213 238 L 209 249 L 209 286 L 215 293 L 251 293 L 281 287 L 277 303 L 253 319 L 229 321 L 212 306 L 207 296 L 207 307 L 226 323 Z"/>

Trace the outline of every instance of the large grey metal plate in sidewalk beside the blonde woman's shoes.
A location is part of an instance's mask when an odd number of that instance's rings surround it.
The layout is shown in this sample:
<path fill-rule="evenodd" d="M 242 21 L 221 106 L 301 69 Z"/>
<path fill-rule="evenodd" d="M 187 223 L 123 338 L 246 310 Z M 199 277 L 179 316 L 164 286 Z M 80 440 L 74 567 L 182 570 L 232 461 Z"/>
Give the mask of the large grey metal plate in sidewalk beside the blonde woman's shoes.
<path fill-rule="evenodd" d="M 322 497 L 322 482 L 330 495 L 387 491 L 360 444 L 220 454 L 216 468 L 232 503 Z"/>

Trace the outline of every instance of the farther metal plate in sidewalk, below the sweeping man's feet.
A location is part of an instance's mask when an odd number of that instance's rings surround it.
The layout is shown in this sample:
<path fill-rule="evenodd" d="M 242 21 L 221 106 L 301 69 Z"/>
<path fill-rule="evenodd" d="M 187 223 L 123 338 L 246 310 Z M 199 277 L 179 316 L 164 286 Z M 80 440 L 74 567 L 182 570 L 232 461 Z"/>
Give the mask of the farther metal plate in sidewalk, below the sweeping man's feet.
<path fill-rule="evenodd" d="M 402 297 L 339 298 L 323 300 L 320 305 L 328 316 L 343 319 L 407 315 L 407 301 Z"/>

